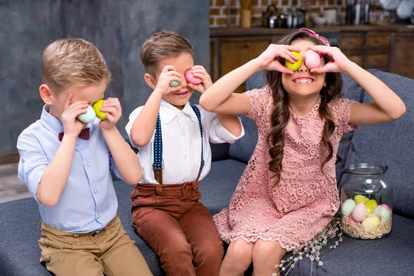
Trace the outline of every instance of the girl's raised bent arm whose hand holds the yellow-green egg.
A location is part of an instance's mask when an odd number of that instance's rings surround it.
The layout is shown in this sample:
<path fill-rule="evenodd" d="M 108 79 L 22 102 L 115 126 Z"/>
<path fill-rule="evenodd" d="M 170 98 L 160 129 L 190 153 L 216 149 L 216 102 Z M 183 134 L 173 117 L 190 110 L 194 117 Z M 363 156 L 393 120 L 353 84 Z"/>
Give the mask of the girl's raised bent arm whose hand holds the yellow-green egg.
<path fill-rule="evenodd" d="M 268 48 L 256 59 L 229 72 L 216 81 L 201 95 L 200 105 L 208 111 L 225 114 L 246 114 L 252 109 L 248 96 L 233 93 L 246 79 L 260 70 L 277 70 L 286 74 L 293 74 L 293 71 L 286 68 L 277 61 L 277 57 L 283 57 L 288 61 L 295 62 L 297 57 L 290 51 L 300 52 L 299 48 L 270 44 Z"/>

